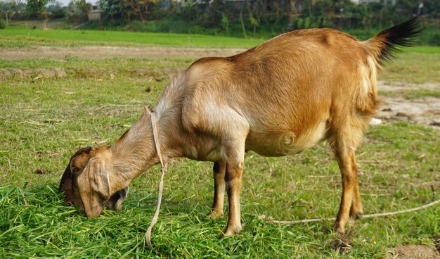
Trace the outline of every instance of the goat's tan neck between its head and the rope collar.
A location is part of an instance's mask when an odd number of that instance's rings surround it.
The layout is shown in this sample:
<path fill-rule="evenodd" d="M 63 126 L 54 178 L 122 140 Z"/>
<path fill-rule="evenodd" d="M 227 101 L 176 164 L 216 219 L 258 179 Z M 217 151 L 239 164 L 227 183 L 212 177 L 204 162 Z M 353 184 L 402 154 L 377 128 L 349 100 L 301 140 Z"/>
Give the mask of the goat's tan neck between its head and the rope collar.
<path fill-rule="evenodd" d="M 110 148 L 112 163 L 112 187 L 118 191 L 128 186 L 134 178 L 150 166 L 159 163 L 150 111 L 144 111 L 134 125 Z"/>

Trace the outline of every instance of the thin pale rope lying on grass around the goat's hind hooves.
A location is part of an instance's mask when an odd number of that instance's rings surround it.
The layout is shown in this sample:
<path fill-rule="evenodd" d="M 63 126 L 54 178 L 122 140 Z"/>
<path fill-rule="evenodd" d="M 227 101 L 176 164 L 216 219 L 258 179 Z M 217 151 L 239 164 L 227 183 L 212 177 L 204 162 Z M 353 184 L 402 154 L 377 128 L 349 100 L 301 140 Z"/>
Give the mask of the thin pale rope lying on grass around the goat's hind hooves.
<path fill-rule="evenodd" d="M 392 216 L 396 214 L 401 213 L 410 213 L 416 210 L 422 210 L 424 208 L 432 207 L 436 205 L 437 203 L 440 203 L 440 200 L 433 201 L 432 203 L 427 203 L 423 206 L 415 207 L 415 208 L 408 208 L 406 210 L 397 210 L 392 211 L 389 213 L 375 213 L 375 214 L 367 214 L 363 215 L 362 218 L 368 218 L 368 217 L 384 217 L 384 216 Z M 336 217 L 328 217 L 328 218 L 315 218 L 315 219 L 309 219 L 309 220 L 273 220 L 273 217 L 266 217 L 266 215 L 257 215 L 260 219 L 267 220 L 271 223 L 278 223 L 278 224 L 287 224 L 287 225 L 295 225 L 295 224 L 301 224 L 301 223 L 309 223 L 309 222 L 321 222 L 321 221 L 333 221 L 336 220 Z"/>

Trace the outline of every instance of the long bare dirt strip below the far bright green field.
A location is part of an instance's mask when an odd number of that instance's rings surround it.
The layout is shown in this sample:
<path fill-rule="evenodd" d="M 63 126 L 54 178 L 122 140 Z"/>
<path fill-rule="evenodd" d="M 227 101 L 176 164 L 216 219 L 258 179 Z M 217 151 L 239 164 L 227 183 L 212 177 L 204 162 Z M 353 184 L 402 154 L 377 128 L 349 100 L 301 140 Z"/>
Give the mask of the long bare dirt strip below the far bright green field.
<path fill-rule="evenodd" d="M 84 46 L 75 48 L 37 46 L 32 48 L 0 49 L 4 59 L 22 58 L 202 58 L 205 56 L 233 56 L 245 49 L 204 49 L 175 47 Z"/>

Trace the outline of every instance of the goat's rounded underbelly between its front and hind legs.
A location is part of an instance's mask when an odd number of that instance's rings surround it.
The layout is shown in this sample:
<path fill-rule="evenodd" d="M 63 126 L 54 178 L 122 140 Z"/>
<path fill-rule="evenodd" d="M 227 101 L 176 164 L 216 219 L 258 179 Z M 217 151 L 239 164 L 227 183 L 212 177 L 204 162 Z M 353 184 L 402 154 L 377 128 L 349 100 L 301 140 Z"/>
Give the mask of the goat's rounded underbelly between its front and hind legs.
<path fill-rule="evenodd" d="M 246 139 L 246 149 L 255 151 L 261 156 L 286 156 L 309 149 L 324 137 L 324 122 L 299 136 L 288 130 L 250 132 Z"/>

